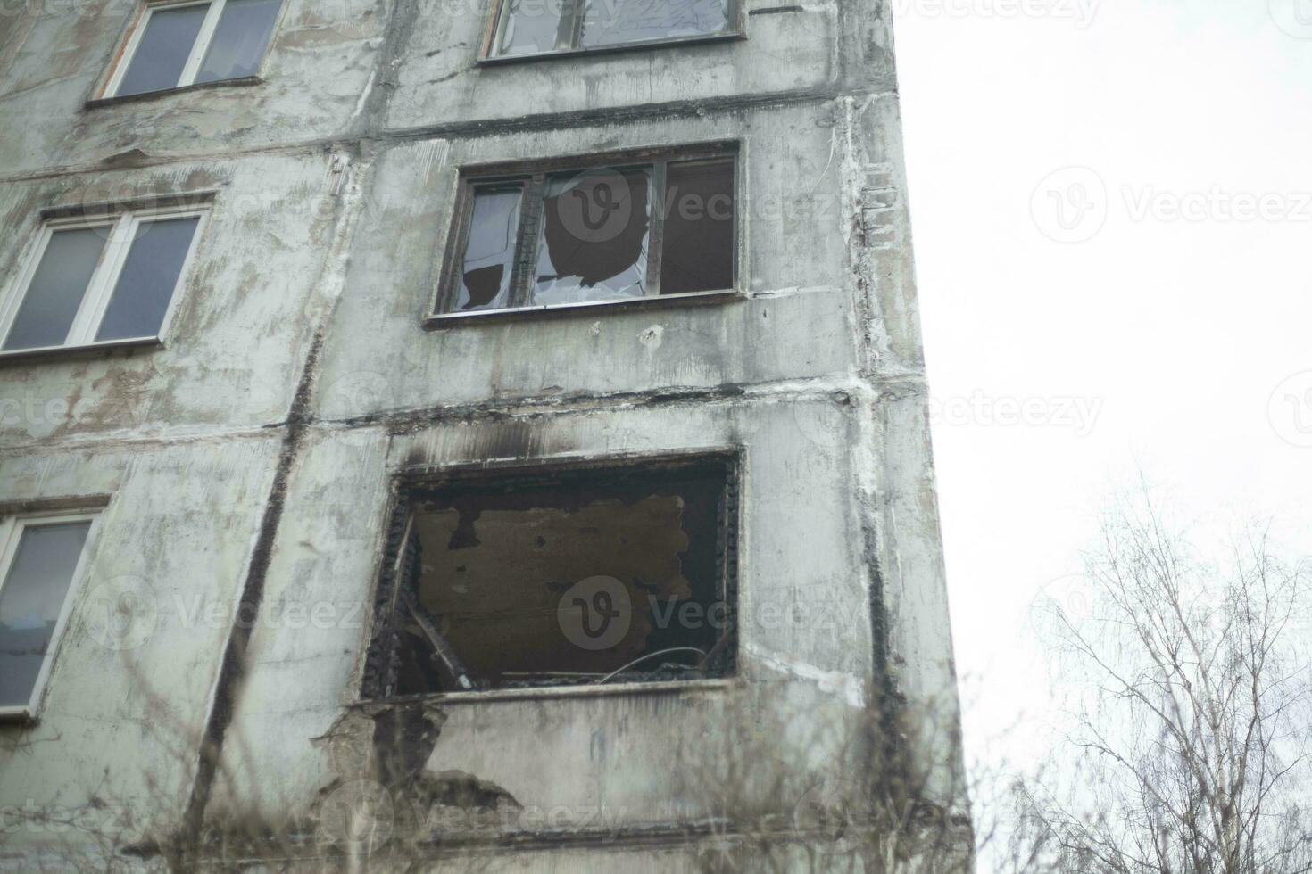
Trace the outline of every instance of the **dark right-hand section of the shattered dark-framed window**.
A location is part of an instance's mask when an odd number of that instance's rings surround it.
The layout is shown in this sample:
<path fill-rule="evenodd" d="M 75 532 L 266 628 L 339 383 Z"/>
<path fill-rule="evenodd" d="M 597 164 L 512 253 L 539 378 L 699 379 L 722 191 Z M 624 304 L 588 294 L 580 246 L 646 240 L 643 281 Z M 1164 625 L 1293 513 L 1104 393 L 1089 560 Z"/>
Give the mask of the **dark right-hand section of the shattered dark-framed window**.
<path fill-rule="evenodd" d="M 733 161 L 684 161 L 665 173 L 660 294 L 733 287 Z"/>

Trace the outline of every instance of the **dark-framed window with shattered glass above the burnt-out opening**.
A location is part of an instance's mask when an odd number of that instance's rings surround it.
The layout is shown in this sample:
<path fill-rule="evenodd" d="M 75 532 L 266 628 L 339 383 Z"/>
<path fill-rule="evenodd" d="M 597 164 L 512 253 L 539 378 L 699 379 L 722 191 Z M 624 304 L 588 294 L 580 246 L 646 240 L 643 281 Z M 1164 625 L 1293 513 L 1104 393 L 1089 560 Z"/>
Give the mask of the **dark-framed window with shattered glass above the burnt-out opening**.
<path fill-rule="evenodd" d="M 732 151 L 467 177 L 438 313 L 732 290 Z"/>

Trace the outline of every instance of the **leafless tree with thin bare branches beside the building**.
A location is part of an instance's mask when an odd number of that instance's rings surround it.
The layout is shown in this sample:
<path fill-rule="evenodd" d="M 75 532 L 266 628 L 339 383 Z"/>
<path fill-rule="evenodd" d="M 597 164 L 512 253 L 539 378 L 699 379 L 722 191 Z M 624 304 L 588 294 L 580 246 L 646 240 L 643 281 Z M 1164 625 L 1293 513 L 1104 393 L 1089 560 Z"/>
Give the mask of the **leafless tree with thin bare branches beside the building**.
<path fill-rule="evenodd" d="M 1308 566 L 1269 525 L 1197 540 L 1143 487 L 1088 556 L 1092 615 L 1051 611 L 1077 681 L 1065 777 L 1015 785 L 1035 870 L 1312 871 Z"/>

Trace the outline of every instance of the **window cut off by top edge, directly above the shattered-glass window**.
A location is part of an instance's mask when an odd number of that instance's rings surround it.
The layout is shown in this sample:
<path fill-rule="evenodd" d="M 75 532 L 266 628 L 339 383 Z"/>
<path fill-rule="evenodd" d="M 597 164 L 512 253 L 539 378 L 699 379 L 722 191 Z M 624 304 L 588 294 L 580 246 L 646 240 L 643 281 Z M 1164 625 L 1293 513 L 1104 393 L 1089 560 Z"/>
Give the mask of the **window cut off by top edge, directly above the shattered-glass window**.
<path fill-rule="evenodd" d="M 488 55 L 560 51 L 729 35 L 735 0 L 501 0 Z"/>

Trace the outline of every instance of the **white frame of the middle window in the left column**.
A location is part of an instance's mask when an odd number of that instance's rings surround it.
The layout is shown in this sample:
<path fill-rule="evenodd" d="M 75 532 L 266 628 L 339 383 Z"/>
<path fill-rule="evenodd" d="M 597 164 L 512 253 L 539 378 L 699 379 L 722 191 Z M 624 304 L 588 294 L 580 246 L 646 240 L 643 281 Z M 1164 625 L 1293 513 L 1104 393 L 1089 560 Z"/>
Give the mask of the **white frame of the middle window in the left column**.
<path fill-rule="evenodd" d="M 205 207 L 161 206 L 98 216 L 73 216 L 67 219 L 47 219 L 43 221 L 41 232 L 37 236 L 37 241 L 33 245 L 31 252 L 28 253 L 22 270 L 18 271 L 17 280 L 9 294 L 5 295 L 4 300 L 0 301 L 0 358 L 10 355 L 30 355 L 33 352 L 45 352 L 59 349 L 85 349 L 96 346 L 125 346 L 163 342 L 164 337 L 168 334 L 169 324 L 173 321 L 173 312 L 177 308 L 177 300 L 181 296 L 180 292 L 182 290 L 182 284 L 186 282 L 192 259 L 195 257 L 197 241 L 205 232 L 205 223 L 209 212 L 209 208 Z M 109 309 L 109 301 L 114 295 L 114 287 L 118 284 L 118 278 L 123 271 L 123 265 L 127 262 L 127 253 L 133 248 L 136 228 L 147 221 L 188 219 L 192 216 L 199 218 L 199 221 L 195 225 L 195 232 L 192 235 L 192 245 L 188 248 L 186 257 L 182 259 L 182 269 L 177 273 L 177 283 L 174 283 L 173 291 L 171 292 L 168 309 L 164 311 L 164 321 L 160 322 L 159 330 L 148 337 L 125 337 L 122 339 L 97 341 L 96 332 L 100 330 L 100 324 L 105 318 L 105 311 Z M 41 266 L 41 259 L 46 254 L 51 237 L 54 237 L 56 231 L 67 231 L 70 228 L 108 228 L 109 238 L 105 241 L 105 246 L 100 252 L 100 259 L 96 262 L 94 271 L 92 271 L 91 282 L 87 283 L 81 304 L 77 307 L 77 314 L 73 316 L 72 325 L 68 328 L 68 334 L 64 337 L 64 342 L 54 346 L 37 346 L 31 349 L 3 349 L 5 341 L 9 338 L 9 332 L 13 330 L 13 322 L 18 317 L 18 309 L 22 307 L 22 301 L 28 297 L 28 292 L 31 290 L 31 280 L 37 275 L 37 269 Z"/>

